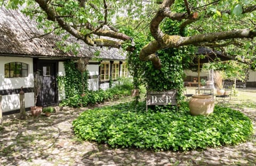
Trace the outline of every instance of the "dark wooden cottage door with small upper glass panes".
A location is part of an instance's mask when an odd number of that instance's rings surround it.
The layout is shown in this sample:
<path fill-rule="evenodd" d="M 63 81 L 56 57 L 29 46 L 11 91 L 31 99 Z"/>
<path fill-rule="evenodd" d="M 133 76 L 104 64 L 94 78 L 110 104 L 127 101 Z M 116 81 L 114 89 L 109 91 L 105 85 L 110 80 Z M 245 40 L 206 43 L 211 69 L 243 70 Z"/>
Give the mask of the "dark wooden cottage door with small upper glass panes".
<path fill-rule="evenodd" d="M 57 83 L 56 83 L 56 63 L 39 62 L 38 69 L 42 76 L 42 90 L 38 95 L 38 106 L 57 104 Z"/>

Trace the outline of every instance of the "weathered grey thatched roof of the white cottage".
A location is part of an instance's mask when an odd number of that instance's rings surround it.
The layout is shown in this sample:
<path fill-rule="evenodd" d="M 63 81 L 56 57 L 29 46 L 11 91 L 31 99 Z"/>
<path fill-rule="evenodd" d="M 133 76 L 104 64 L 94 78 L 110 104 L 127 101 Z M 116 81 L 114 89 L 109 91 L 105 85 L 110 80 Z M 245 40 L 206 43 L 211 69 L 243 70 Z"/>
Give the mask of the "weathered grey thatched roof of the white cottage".
<path fill-rule="evenodd" d="M 37 29 L 37 23 L 22 14 L 19 10 L 7 10 L 0 7 L 0 55 L 30 56 L 30 57 L 94 57 L 99 50 L 101 59 L 124 60 L 125 54 L 121 49 L 99 48 L 88 46 L 83 41 L 71 37 L 70 42 L 81 44 L 78 54 L 65 53 L 55 43 L 60 41 L 60 36 L 49 34 L 41 38 L 32 37 L 43 35 L 43 30 Z M 31 39 L 31 40 L 29 40 Z"/>

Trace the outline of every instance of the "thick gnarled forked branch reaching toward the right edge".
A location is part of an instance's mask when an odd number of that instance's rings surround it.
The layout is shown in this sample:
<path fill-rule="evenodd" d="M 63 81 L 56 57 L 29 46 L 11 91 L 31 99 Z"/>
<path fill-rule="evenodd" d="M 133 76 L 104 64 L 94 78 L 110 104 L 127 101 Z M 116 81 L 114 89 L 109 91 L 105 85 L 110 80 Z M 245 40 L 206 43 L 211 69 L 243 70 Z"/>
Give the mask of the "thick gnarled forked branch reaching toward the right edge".
<path fill-rule="evenodd" d="M 195 45 L 200 43 L 212 43 L 215 41 L 236 39 L 236 38 L 253 38 L 256 36 L 256 28 L 254 29 L 235 29 L 230 31 L 221 31 L 209 34 L 200 34 L 189 37 L 182 37 L 178 35 L 167 35 L 159 28 L 159 24 L 165 18 L 166 12 L 169 12 L 170 6 L 174 3 L 171 0 L 163 1 L 162 5 L 159 7 L 156 15 L 150 23 L 150 32 L 155 38 L 149 44 L 144 46 L 140 51 L 140 60 L 142 61 L 152 61 L 156 69 L 161 68 L 161 61 L 159 57 L 156 57 L 154 53 L 159 49 L 163 48 L 175 48 L 186 45 Z M 250 7 L 251 11 L 253 8 Z M 244 9 L 246 10 L 246 9 Z M 154 58 L 152 58 L 154 57 Z"/>

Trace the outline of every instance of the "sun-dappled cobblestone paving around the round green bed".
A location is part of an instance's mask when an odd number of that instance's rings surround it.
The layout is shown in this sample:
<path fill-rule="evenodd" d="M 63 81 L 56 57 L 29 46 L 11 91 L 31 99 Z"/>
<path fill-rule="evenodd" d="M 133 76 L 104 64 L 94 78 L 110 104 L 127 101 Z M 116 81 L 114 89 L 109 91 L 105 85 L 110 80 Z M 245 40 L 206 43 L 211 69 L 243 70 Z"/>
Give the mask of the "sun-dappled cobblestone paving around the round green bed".
<path fill-rule="evenodd" d="M 255 93 L 255 92 L 253 92 Z M 188 152 L 109 148 L 81 142 L 71 123 L 83 109 L 57 107 L 51 117 L 26 120 L 4 116 L 0 126 L 0 165 L 256 165 L 256 135 L 234 147 Z M 256 126 L 256 109 L 241 110 Z"/>

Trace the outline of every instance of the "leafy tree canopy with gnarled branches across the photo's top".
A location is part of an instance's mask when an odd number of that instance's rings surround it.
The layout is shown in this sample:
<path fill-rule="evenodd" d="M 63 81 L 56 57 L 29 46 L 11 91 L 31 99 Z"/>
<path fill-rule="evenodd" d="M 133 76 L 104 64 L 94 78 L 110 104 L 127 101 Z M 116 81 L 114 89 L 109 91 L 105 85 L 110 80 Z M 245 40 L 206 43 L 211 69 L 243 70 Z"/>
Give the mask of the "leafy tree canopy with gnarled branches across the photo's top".
<path fill-rule="evenodd" d="M 60 28 L 89 45 L 119 48 L 124 41 L 131 39 L 128 34 L 118 31 L 121 26 L 131 26 L 134 31 L 143 31 L 145 35 L 150 30 L 154 40 L 140 51 L 140 60 L 145 61 L 158 61 L 154 53 L 166 47 L 231 45 L 227 49 L 229 53 L 238 43 L 244 48 L 255 45 L 252 38 L 256 35 L 256 2 L 253 0 L 2 0 L 2 4 L 12 9 L 25 3 L 24 11 L 36 16 L 38 22 L 44 22 L 44 28 Z M 174 29 L 181 32 L 187 29 L 188 33 L 168 35 L 161 26 L 167 18 L 180 23 L 173 26 Z M 155 67 L 160 68 L 161 64 L 156 62 Z"/>

